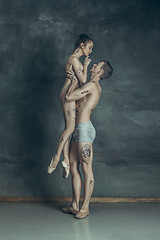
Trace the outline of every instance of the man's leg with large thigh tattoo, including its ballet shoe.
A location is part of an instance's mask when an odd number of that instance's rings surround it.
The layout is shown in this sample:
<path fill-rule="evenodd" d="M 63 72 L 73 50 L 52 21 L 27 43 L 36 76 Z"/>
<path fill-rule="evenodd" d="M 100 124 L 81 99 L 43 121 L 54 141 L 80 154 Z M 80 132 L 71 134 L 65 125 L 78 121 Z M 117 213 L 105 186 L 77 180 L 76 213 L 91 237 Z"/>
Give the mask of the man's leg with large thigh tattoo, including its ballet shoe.
<path fill-rule="evenodd" d="M 84 201 L 76 218 L 84 218 L 89 215 L 89 202 L 94 188 L 94 176 L 92 171 L 93 149 L 92 143 L 78 142 L 79 160 L 84 173 Z"/>

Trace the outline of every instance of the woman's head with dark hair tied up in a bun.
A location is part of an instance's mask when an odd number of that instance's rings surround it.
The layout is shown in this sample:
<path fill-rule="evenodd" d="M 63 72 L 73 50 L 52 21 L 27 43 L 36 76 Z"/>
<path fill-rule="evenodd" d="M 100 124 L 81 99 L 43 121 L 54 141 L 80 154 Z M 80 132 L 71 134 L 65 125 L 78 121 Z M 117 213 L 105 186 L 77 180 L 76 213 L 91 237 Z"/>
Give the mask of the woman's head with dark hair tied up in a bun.
<path fill-rule="evenodd" d="M 75 47 L 81 48 L 85 56 L 88 56 L 92 52 L 93 40 L 86 34 L 80 34 L 79 39 L 75 43 Z"/>

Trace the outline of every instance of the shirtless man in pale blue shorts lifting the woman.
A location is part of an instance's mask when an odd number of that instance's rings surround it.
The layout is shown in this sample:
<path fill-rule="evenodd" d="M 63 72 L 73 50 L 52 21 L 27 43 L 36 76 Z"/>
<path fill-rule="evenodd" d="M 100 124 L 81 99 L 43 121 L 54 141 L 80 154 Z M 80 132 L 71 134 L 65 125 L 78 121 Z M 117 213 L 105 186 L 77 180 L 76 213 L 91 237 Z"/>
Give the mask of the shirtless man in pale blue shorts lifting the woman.
<path fill-rule="evenodd" d="M 74 214 L 76 218 L 85 218 L 89 215 L 89 201 L 94 187 L 92 172 L 93 149 L 95 129 L 90 121 L 90 115 L 99 102 L 101 86 L 99 81 L 110 77 L 113 69 L 108 61 L 94 64 L 91 78 L 83 87 L 66 95 L 66 101 L 77 101 L 76 126 L 70 145 L 70 170 L 72 176 L 73 201 L 70 207 L 63 208 L 65 213 Z M 79 210 L 81 194 L 81 175 L 79 165 L 84 173 L 84 201 Z"/>

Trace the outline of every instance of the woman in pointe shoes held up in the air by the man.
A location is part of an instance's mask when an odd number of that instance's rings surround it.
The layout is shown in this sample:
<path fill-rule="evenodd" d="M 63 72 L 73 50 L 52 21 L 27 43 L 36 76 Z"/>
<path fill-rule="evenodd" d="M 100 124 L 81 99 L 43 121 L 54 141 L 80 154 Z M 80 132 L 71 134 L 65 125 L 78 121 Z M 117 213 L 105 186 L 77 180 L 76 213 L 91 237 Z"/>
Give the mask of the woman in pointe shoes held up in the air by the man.
<path fill-rule="evenodd" d="M 66 81 L 60 93 L 60 102 L 63 108 L 65 119 L 65 129 L 60 137 L 56 155 L 52 157 L 48 166 L 48 173 L 52 173 L 59 162 L 60 155 L 63 151 L 64 161 L 64 177 L 67 178 L 70 172 L 69 168 L 69 137 L 75 128 L 76 103 L 75 101 L 66 102 L 66 94 L 70 94 L 77 89 L 81 83 L 87 81 L 87 68 L 91 62 L 89 54 L 92 52 L 93 41 L 86 34 L 81 34 L 75 44 L 76 50 L 68 58 L 66 63 Z M 84 65 L 81 64 L 79 58 L 85 55 Z"/>

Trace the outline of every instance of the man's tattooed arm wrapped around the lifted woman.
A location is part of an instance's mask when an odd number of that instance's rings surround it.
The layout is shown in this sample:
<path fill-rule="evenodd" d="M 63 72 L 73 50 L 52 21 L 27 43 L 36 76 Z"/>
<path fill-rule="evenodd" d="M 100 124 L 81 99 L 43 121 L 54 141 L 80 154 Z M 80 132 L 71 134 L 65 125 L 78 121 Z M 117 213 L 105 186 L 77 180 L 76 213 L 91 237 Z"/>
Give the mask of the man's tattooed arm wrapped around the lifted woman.
<path fill-rule="evenodd" d="M 70 95 L 66 94 L 66 100 L 67 102 L 76 101 L 83 97 L 85 97 L 88 94 L 91 94 L 95 88 L 95 84 L 93 82 L 88 82 L 83 87 L 77 88 L 74 92 L 72 92 Z"/>

